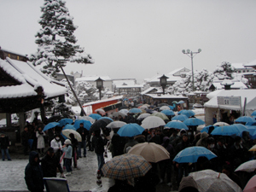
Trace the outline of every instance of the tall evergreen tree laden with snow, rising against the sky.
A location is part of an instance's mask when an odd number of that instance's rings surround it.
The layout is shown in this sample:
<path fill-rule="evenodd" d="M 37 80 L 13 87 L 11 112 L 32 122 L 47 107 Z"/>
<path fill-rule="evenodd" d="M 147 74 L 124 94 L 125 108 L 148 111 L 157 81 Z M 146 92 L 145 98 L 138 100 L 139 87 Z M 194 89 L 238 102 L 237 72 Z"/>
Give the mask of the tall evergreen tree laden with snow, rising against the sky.
<path fill-rule="evenodd" d="M 36 34 L 38 51 L 32 54 L 30 61 L 36 66 L 45 62 L 43 73 L 55 78 L 60 72 L 59 66 L 65 67 L 64 61 L 93 63 L 84 48 L 76 44 L 73 32 L 78 26 L 73 25 L 73 17 L 69 15 L 62 0 L 44 0 L 41 7 L 43 15 L 38 23 L 42 28 Z"/>

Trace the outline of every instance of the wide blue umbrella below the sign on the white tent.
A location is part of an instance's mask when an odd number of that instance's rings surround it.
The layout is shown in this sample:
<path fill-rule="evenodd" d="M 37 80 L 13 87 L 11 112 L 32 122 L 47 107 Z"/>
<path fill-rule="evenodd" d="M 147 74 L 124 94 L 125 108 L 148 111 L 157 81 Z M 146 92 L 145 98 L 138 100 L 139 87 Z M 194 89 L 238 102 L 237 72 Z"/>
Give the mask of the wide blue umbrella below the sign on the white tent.
<path fill-rule="evenodd" d="M 212 131 L 212 136 L 239 136 L 243 131 L 247 131 L 247 128 L 238 128 L 236 125 L 218 126 Z"/>

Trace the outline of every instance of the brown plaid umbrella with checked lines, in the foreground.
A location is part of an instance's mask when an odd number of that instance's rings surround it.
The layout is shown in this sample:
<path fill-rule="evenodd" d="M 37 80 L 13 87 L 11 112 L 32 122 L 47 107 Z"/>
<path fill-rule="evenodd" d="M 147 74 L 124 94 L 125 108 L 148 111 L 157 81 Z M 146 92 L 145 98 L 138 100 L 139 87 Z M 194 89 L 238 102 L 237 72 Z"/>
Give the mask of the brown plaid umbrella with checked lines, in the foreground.
<path fill-rule="evenodd" d="M 105 177 L 126 180 L 128 178 L 142 177 L 151 165 L 142 156 L 136 154 L 123 154 L 115 156 L 102 166 Z"/>

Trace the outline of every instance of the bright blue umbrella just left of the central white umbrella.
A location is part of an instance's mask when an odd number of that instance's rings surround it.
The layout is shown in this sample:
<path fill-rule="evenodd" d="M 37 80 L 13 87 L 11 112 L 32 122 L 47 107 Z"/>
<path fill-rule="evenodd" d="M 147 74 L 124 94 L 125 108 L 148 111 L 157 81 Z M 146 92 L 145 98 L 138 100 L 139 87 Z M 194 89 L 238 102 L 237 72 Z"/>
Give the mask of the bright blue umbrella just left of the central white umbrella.
<path fill-rule="evenodd" d="M 145 131 L 145 129 L 137 124 L 126 124 L 123 125 L 117 134 L 119 134 L 120 137 L 134 137 L 137 135 L 141 135 Z"/>

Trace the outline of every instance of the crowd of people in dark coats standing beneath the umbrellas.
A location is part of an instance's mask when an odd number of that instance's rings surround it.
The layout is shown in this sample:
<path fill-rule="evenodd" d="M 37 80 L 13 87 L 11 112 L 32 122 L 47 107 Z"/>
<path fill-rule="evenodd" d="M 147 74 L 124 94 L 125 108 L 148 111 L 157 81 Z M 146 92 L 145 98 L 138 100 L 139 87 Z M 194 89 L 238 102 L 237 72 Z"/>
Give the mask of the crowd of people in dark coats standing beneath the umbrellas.
<path fill-rule="evenodd" d="M 142 119 L 137 119 L 139 114 L 127 113 L 127 115 L 113 117 L 113 120 L 124 121 L 125 123 L 142 124 Z M 170 119 L 172 117 L 169 117 Z M 34 124 L 34 123 L 33 123 Z M 22 144 L 24 145 L 24 154 L 27 154 L 28 149 L 31 149 L 29 164 L 26 166 L 26 184 L 31 191 L 41 191 L 41 183 L 38 183 L 39 177 L 56 177 L 56 168 L 63 175 L 63 169 L 60 164 L 61 155 L 63 155 L 63 167 L 67 170 L 66 176 L 77 168 L 77 160 L 82 156 L 86 157 L 86 147 L 94 150 L 98 161 L 98 170 L 102 177 L 104 177 L 101 169 L 104 165 L 104 154 L 108 149 L 112 157 L 127 153 L 130 148 L 137 143 L 156 143 L 162 145 L 170 154 L 170 159 L 162 160 L 158 163 L 150 162 L 152 169 L 144 176 L 135 178 L 133 181 L 115 181 L 113 189 L 119 188 L 119 191 L 144 191 L 147 186 L 147 191 L 156 191 L 156 185 L 159 183 L 166 183 L 167 186 L 180 186 L 182 179 L 189 175 L 189 172 L 197 172 L 206 169 L 212 169 L 216 172 L 224 172 L 231 180 L 237 183 L 241 189 L 245 186 L 248 179 L 252 177 L 253 173 L 242 173 L 241 175 L 234 173 L 236 167 L 240 166 L 247 160 L 253 160 L 254 154 L 248 152 L 254 143 L 250 139 L 247 132 L 243 132 L 242 137 L 220 137 L 212 136 L 211 132 L 214 127 L 210 127 L 208 132 L 196 131 L 195 127 L 189 127 L 189 130 L 178 129 L 164 129 L 164 127 L 157 127 L 150 130 L 145 130 L 141 135 L 136 137 L 120 137 L 117 134 L 118 128 L 113 129 L 113 135 L 110 134 L 110 129 L 101 127 L 96 131 L 90 132 L 84 129 L 83 124 L 78 129 L 82 137 L 82 141 L 78 142 L 73 134 L 70 139 L 64 139 L 61 136 L 63 127 L 55 127 L 46 133 L 42 131 L 41 124 L 26 125 L 22 132 Z M 112 135 L 112 137 L 110 137 Z M 32 139 L 33 138 L 33 139 Z M 32 139 L 32 143 L 30 143 Z M 49 149 L 44 154 L 45 143 L 49 143 Z M 106 147 L 107 146 L 107 147 Z M 192 146 L 201 146 L 216 154 L 217 158 L 208 160 L 206 157 L 200 157 L 196 163 L 177 163 L 173 161 L 174 157 L 184 148 Z M 82 153 L 84 148 L 84 153 Z M 35 150 L 38 152 L 35 152 Z M 83 155 L 82 155 L 83 154 Z M 39 157 L 43 157 L 39 160 Z M 39 166 L 39 161 L 42 161 L 42 171 Z M 47 169 L 46 167 L 50 167 Z M 38 172 L 32 174 L 32 172 Z M 39 173 L 41 172 L 41 173 Z M 36 177 L 35 177 L 36 175 Z M 174 181 L 174 183 L 173 183 Z M 35 182 L 35 183 L 33 183 Z M 35 186 L 38 188 L 35 190 Z M 128 187 L 124 187 L 128 186 Z M 39 190 L 40 189 L 40 190 Z M 132 189 L 132 190 L 131 190 Z M 143 190 L 142 190 L 143 189 Z M 185 190 L 183 190 L 185 191 Z"/>

